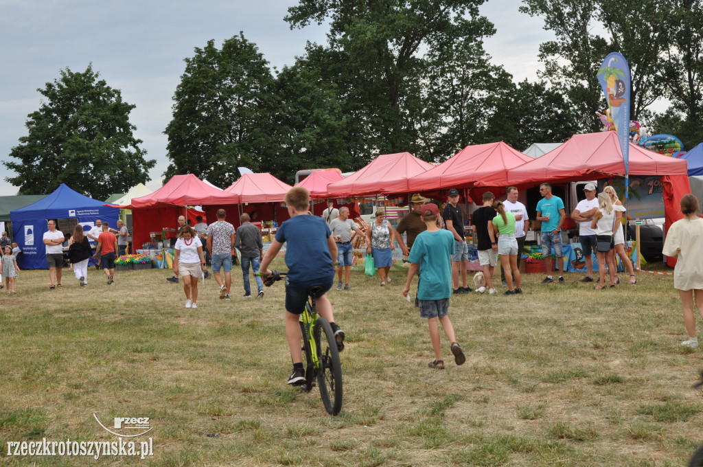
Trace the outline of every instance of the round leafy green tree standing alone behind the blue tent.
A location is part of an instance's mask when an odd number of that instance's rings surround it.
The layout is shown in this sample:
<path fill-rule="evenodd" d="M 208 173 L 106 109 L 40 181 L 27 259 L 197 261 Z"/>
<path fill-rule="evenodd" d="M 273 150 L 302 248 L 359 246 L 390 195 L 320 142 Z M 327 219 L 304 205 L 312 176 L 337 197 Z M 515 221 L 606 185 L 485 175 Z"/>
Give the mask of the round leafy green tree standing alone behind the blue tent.
<path fill-rule="evenodd" d="M 149 180 L 155 160 L 134 138 L 129 113 L 135 108 L 122 101 L 92 65 L 85 72 L 60 70 L 60 78 L 37 89 L 44 101 L 27 115 L 27 136 L 3 162 L 17 173 L 5 180 L 19 186 L 19 194 L 47 194 L 66 184 L 75 191 L 104 200 Z"/>

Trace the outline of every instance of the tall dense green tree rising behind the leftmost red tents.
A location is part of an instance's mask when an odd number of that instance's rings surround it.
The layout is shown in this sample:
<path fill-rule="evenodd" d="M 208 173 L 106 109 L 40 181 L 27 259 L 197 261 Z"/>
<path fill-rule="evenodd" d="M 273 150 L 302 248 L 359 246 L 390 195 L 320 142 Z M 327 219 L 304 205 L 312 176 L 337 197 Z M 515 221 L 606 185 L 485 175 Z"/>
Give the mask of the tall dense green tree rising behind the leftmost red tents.
<path fill-rule="evenodd" d="M 240 32 L 219 50 L 209 40 L 184 61 L 164 132 L 171 160 L 164 176 L 190 173 L 228 186 L 238 177 L 237 167 L 268 169 L 261 163 L 274 154 L 274 79 L 257 46 Z"/>

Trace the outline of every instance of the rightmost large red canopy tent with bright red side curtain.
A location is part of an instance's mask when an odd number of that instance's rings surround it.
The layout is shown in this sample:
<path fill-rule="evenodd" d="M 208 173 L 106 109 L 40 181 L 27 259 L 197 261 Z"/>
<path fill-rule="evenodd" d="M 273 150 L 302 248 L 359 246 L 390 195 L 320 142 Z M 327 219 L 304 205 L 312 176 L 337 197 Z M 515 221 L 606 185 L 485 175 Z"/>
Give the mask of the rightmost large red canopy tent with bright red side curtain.
<path fill-rule="evenodd" d="M 679 203 L 690 193 L 688 165 L 683 162 L 630 143 L 629 174 L 662 177 L 667 232 L 683 217 Z M 510 184 L 522 186 L 624 176 L 625 161 L 615 132 L 576 134 L 554 151 L 508 170 Z M 666 262 L 673 265 L 673 258 Z"/>

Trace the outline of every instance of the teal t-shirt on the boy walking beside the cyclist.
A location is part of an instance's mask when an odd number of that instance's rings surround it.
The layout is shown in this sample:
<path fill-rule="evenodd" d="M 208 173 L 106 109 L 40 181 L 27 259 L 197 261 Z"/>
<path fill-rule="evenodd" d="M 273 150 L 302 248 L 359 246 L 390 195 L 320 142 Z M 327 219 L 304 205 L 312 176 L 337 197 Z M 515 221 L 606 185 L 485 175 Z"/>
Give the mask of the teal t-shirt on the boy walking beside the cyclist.
<path fill-rule="evenodd" d="M 420 264 L 418 300 L 451 297 L 451 255 L 454 236 L 448 230 L 424 231 L 415 238 L 408 260 Z"/>

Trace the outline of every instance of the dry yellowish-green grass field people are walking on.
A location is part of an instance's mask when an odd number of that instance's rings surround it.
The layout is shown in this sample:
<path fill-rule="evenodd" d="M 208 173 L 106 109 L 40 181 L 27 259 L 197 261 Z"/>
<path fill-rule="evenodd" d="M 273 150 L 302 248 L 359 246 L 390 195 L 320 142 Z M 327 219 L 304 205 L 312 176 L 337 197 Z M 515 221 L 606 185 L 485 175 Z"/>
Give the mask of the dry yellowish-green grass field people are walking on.
<path fill-rule="evenodd" d="M 281 262 L 274 266 L 285 269 Z M 660 266 L 661 268 L 661 266 Z M 22 271 L 0 291 L 0 464 L 150 466 L 682 466 L 703 442 L 703 351 L 685 339 L 673 278 L 593 290 L 567 274 L 524 295 L 460 295 L 449 316 L 467 355 L 446 370 L 427 321 L 400 295 L 405 276 L 352 274 L 331 290 L 344 407 L 285 384 L 283 283 L 262 300 L 219 300 L 213 279 L 198 309 L 167 271 L 118 272 L 108 286 L 70 271 Z M 444 334 L 442 334 L 444 338 Z M 15 457 L 7 442 L 115 441 L 98 426 L 150 417 L 153 456 Z"/>

